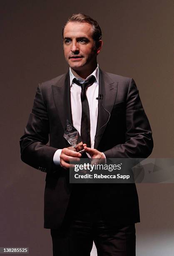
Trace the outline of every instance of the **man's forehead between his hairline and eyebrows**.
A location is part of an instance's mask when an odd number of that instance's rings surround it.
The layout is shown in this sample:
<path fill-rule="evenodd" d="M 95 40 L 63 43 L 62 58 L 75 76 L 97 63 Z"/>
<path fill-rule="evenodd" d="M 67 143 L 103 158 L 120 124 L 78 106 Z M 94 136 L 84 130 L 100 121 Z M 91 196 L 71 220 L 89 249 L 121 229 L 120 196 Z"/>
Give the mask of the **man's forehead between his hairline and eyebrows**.
<path fill-rule="evenodd" d="M 87 22 L 68 22 L 64 29 L 64 37 L 72 36 L 92 36 L 92 25 Z"/>

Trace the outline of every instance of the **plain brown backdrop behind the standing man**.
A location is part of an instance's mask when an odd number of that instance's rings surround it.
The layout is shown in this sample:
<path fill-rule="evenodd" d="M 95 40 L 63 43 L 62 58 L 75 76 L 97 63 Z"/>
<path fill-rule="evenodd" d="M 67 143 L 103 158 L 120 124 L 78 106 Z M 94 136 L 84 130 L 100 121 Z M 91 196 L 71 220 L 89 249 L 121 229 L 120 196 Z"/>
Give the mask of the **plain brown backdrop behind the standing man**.
<path fill-rule="evenodd" d="M 172 0 L 1 0 L 0 247 L 50 256 L 43 229 L 45 174 L 20 161 L 19 138 L 38 82 L 67 72 L 62 25 L 84 12 L 103 31 L 99 66 L 133 77 L 152 126 L 152 157 L 173 157 Z M 137 255 L 173 255 L 173 184 L 138 184 Z M 114 203 L 114 202 L 113 202 Z"/>

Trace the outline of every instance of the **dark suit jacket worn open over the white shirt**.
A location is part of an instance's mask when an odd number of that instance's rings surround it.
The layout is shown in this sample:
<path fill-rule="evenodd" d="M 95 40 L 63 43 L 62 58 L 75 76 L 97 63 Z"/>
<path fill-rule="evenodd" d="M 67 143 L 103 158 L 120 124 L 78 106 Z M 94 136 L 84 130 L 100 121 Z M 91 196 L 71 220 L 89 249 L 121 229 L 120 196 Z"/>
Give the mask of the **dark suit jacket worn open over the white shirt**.
<path fill-rule="evenodd" d="M 107 158 L 146 158 L 153 148 L 152 131 L 133 79 L 99 70 L 97 131 L 94 148 Z M 72 122 L 69 72 L 37 87 L 32 112 L 20 139 L 21 159 L 46 172 L 45 228 L 59 228 L 65 216 L 73 185 L 68 170 L 55 166 L 58 148 L 69 146 L 64 135 L 66 120 Z M 49 142 L 49 145 L 47 143 Z M 87 184 L 86 184 L 87 185 Z M 99 206 L 109 222 L 139 222 L 135 184 L 93 184 Z"/>

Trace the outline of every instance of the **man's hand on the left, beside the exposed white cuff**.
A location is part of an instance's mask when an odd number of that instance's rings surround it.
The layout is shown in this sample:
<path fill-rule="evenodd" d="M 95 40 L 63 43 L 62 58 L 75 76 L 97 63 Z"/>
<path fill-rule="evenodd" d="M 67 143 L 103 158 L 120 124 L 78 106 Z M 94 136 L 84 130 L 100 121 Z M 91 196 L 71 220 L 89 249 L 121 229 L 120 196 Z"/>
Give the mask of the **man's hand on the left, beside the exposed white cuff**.
<path fill-rule="evenodd" d="M 74 147 L 63 148 L 60 154 L 60 165 L 65 169 L 73 167 L 72 164 L 69 164 L 67 162 L 69 162 L 70 160 L 80 161 L 81 156 L 82 155 L 80 153 L 75 151 Z"/>

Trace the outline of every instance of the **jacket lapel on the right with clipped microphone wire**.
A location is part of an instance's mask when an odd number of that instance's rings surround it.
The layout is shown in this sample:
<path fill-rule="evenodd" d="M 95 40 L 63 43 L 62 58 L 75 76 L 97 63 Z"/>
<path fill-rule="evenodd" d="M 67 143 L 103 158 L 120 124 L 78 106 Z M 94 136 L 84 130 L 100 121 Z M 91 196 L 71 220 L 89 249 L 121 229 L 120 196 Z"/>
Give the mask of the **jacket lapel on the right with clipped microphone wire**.
<path fill-rule="evenodd" d="M 107 120 L 109 119 L 109 113 L 111 113 L 116 96 L 117 96 L 118 82 L 113 81 L 106 72 L 99 69 L 99 94 L 103 95 L 103 100 L 99 100 L 98 104 L 98 118 L 97 129 L 95 135 L 94 148 L 99 146 L 99 142 L 105 131 Z M 109 111 L 107 113 L 104 108 Z M 103 126 L 104 125 L 104 126 Z M 102 127 L 103 126 L 103 127 Z"/>

